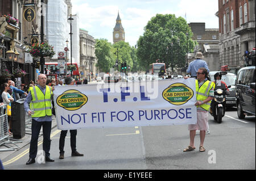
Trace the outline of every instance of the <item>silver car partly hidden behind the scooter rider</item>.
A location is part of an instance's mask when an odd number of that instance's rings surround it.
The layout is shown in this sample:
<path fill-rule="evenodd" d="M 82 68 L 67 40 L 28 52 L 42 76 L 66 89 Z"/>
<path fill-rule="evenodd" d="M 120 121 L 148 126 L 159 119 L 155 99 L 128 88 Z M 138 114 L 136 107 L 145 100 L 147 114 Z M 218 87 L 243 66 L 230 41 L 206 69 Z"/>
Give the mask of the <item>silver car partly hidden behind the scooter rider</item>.
<path fill-rule="evenodd" d="M 214 74 L 220 71 L 210 71 L 209 78 L 210 81 L 214 81 Z M 226 107 L 236 107 L 236 79 L 237 75 L 228 72 L 226 75 L 222 75 L 221 81 L 225 82 L 229 88 L 230 95 L 226 95 Z"/>

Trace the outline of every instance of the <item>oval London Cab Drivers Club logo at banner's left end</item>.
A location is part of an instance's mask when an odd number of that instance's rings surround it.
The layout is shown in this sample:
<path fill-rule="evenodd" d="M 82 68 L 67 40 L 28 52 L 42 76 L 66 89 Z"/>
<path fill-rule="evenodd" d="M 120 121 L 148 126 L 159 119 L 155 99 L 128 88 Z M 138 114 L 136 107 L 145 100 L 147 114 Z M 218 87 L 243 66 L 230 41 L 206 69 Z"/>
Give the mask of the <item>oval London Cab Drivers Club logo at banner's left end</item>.
<path fill-rule="evenodd" d="M 77 90 L 68 90 L 57 97 L 57 104 L 68 111 L 79 110 L 86 102 L 88 98 Z"/>

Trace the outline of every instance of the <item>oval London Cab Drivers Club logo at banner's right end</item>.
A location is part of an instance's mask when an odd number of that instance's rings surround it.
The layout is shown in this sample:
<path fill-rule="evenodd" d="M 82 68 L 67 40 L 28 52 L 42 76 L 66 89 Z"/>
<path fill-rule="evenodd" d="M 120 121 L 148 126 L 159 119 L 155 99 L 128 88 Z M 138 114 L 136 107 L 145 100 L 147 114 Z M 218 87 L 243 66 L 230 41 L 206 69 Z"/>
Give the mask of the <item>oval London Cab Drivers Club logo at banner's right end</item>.
<path fill-rule="evenodd" d="M 183 83 L 174 83 L 167 87 L 167 89 L 163 91 L 162 95 L 169 103 L 179 106 L 187 103 L 188 100 L 193 97 L 194 92 Z"/>

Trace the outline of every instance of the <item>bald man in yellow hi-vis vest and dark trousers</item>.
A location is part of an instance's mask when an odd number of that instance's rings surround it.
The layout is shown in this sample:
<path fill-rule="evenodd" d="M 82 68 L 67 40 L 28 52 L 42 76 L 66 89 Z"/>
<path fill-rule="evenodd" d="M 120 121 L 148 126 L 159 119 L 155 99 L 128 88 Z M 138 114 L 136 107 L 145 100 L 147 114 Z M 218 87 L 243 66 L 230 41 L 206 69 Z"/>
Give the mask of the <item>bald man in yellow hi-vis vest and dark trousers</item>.
<path fill-rule="evenodd" d="M 30 87 L 27 98 L 24 101 L 24 110 L 31 115 L 31 141 L 30 154 L 26 165 L 35 163 L 38 151 L 38 137 L 41 127 L 43 127 L 43 150 L 46 162 L 54 162 L 49 156 L 51 147 L 51 128 L 52 128 L 52 87 L 46 85 L 46 75 L 38 76 L 39 85 Z"/>

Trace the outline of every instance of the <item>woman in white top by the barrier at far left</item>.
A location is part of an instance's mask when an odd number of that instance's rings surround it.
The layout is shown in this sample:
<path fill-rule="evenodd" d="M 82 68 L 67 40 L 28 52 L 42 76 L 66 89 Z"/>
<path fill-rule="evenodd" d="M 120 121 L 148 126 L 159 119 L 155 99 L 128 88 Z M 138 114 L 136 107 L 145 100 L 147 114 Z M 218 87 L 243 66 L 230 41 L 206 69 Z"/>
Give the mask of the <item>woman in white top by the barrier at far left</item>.
<path fill-rule="evenodd" d="M 8 83 L 3 83 L 2 88 L 1 88 L 1 92 L 2 92 L 2 99 L 3 99 L 3 103 L 6 104 L 6 113 L 7 113 L 7 120 L 9 123 L 9 136 L 11 136 L 13 133 L 11 132 L 11 102 L 14 101 L 14 98 L 11 97 L 11 95 L 9 94 L 9 92 L 7 92 L 8 90 L 10 90 L 10 86 Z M 7 130 L 6 130 L 7 131 Z"/>

